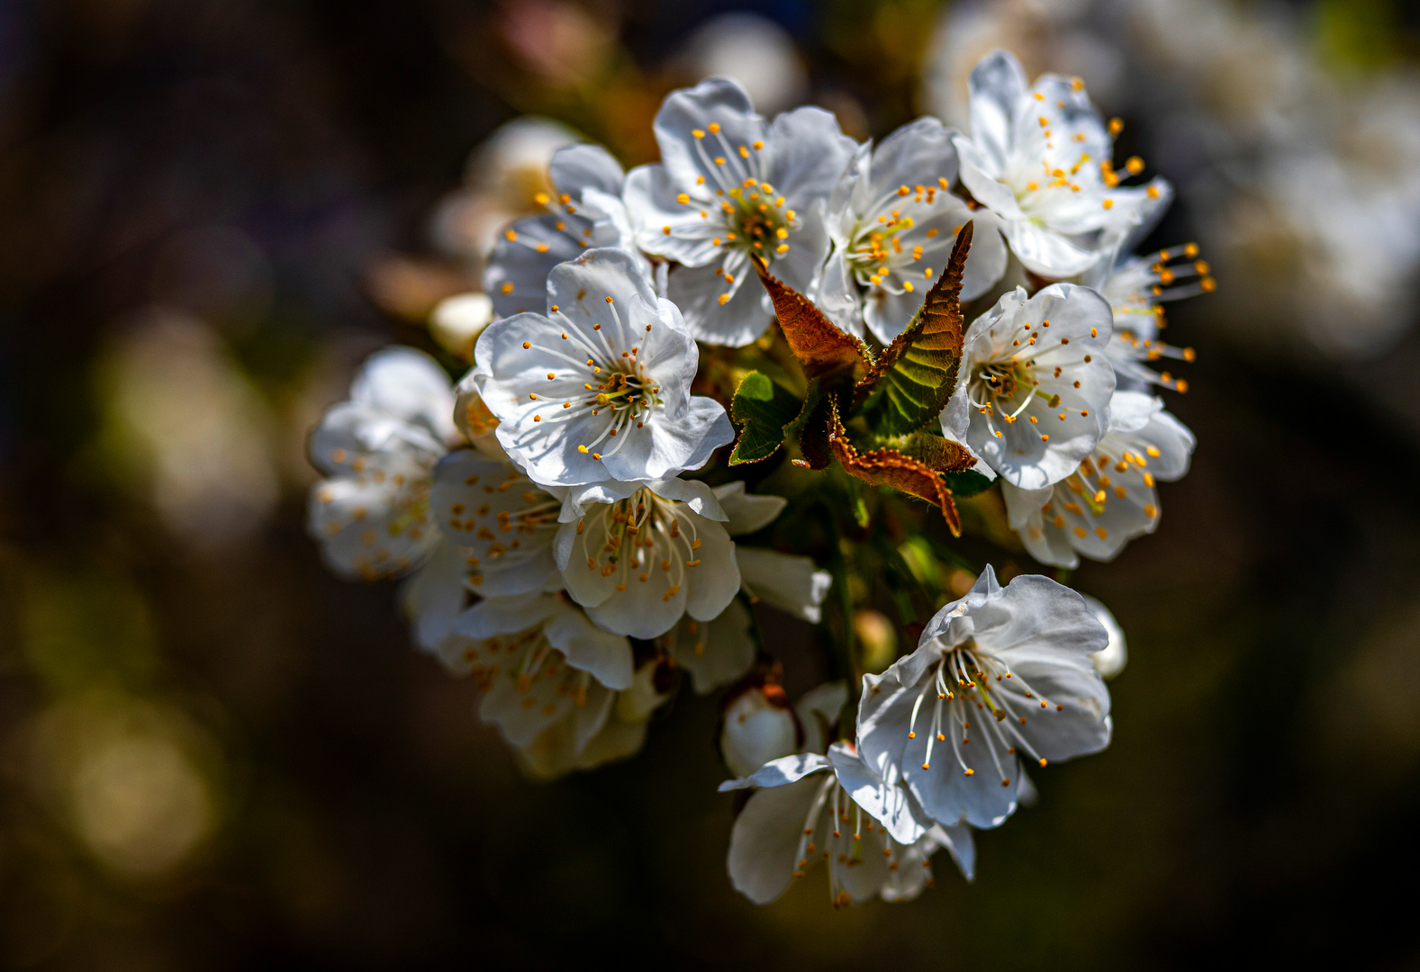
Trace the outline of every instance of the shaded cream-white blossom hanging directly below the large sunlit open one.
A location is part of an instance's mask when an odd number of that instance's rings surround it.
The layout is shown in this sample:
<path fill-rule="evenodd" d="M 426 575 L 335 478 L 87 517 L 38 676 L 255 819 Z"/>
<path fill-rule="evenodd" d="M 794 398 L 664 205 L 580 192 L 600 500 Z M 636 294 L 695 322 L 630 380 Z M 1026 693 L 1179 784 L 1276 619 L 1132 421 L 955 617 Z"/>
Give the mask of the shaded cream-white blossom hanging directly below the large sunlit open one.
<path fill-rule="evenodd" d="M 740 589 L 734 541 L 724 525 L 653 485 L 588 504 L 554 541 L 572 599 L 606 630 L 638 639 L 665 634 L 684 614 L 714 620 Z M 723 515 L 719 507 L 706 512 Z"/>

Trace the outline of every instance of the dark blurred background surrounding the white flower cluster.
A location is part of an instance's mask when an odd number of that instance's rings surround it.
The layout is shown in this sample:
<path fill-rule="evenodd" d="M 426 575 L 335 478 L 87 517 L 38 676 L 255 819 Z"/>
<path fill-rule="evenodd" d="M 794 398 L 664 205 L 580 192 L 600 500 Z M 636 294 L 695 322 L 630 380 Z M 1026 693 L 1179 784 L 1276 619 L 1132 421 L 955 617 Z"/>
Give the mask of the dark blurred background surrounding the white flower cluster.
<path fill-rule="evenodd" d="M 1420 966 L 1416 38 L 1380 0 L 0 0 L 0 962 Z M 304 436 L 383 343 L 456 366 L 429 311 L 530 204 L 467 166 L 500 123 L 645 162 L 734 57 L 859 138 L 963 123 L 997 44 L 1180 187 L 1149 245 L 1220 281 L 1166 335 L 1194 468 L 1072 578 L 1129 636 L 1110 749 L 1038 773 L 973 885 L 754 908 L 714 700 L 527 782 L 393 586 L 322 568 Z"/>

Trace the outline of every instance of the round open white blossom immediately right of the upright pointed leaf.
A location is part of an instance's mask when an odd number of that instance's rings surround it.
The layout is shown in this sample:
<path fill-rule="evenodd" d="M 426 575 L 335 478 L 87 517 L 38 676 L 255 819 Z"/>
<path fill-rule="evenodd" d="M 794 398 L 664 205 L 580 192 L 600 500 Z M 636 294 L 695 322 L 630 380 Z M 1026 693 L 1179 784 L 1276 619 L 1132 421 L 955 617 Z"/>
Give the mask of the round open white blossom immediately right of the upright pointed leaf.
<path fill-rule="evenodd" d="M 1064 480 L 1109 427 L 1112 321 L 1109 304 L 1086 287 L 1004 294 L 967 328 L 943 433 L 1012 485 Z"/>

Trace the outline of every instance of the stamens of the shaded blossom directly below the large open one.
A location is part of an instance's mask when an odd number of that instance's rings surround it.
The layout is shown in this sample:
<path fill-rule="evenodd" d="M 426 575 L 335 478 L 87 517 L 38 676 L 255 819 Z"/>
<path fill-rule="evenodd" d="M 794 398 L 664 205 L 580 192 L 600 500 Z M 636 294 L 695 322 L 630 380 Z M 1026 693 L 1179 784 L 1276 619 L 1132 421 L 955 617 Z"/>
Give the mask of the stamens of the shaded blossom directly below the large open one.
<path fill-rule="evenodd" d="M 616 590 L 630 583 L 650 583 L 659 570 L 667 582 L 662 600 L 680 593 L 686 572 L 700 566 L 696 525 L 679 504 L 650 490 L 598 508 L 577 522 L 575 552 L 586 569 L 604 578 L 616 575 Z"/>

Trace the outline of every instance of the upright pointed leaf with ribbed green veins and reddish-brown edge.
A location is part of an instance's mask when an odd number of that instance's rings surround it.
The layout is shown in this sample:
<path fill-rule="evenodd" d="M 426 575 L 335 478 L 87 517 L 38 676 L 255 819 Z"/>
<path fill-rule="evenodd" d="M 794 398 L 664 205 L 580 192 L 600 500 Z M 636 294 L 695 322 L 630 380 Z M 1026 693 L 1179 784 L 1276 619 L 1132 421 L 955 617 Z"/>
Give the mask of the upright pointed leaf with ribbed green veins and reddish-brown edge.
<path fill-rule="evenodd" d="M 879 436 L 905 436 L 941 413 L 961 366 L 961 274 L 971 250 L 971 223 L 961 227 L 941 277 L 922 309 L 855 389 L 855 400 Z"/>

